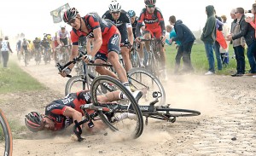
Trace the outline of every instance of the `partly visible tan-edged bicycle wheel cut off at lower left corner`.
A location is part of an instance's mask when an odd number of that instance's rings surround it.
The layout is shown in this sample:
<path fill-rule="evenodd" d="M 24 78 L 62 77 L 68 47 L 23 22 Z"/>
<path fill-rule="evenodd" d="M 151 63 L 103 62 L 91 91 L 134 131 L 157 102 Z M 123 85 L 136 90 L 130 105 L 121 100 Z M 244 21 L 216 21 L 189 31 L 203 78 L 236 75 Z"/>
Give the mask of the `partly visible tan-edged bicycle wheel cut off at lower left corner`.
<path fill-rule="evenodd" d="M 0 109 L 0 136 L 1 140 L 5 143 L 3 155 L 11 156 L 13 153 L 13 137 L 11 130 L 9 128 L 9 123 L 3 114 L 3 111 Z M 0 148 L 2 150 L 2 148 Z"/>

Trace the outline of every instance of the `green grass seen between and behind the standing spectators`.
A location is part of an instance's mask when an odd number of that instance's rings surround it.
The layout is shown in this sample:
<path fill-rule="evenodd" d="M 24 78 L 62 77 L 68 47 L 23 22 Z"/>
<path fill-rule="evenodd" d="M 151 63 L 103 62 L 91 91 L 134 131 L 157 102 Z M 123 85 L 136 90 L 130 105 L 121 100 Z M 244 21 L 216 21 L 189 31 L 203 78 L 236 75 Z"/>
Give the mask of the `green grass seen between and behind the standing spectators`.
<path fill-rule="evenodd" d="M 217 69 L 217 61 L 214 53 L 214 60 L 215 60 L 215 69 Z M 224 74 L 224 75 L 230 75 L 230 73 L 236 72 L 236 59 L 234 57 L 234 49 L 232 46 L 230 46 L 230 64 L 228 66 L 223 66 L 222 71 L 217 71 L 217 74 Z M 169 46 L 166 45 L 166 64 L 169 69 L 169 71 L 172 73 L 174 71 L 174 65 L 175 65 L 175 56 L 177 54 L 177 49 L 175 49 L 175 46 Z M 246 70 L 249 70 L 249 64 L 246 58 Z M 207 54 L 203 43 L 196 43 L 193 45 L 192 52 L 191 52 L 191 62 L 192 66 L 195 69 L 195 73 L 205 73 L 208 70 L 208 61 L 207 61 Z M 182 69 L 183 61 L 181 61 L 181 69 Z"/>

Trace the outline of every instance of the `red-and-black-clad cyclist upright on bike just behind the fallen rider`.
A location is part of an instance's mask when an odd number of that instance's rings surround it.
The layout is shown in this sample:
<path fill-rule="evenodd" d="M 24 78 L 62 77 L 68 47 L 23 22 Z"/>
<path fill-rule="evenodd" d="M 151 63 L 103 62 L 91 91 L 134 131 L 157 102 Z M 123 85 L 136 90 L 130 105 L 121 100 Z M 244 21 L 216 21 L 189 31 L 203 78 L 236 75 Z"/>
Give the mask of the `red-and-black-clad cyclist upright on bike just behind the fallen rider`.
<path fill-rule="evenodd" d="M 117 27 L 113 26 L 110 21 L 102 19 L 96 13 L 86 14 L 81 17 L 79 11 L 75 8 L 67 9 L 63 14 L 63 20 L 73 27 L 71 32 L 73 46 L 70 60 L 73 60 L 79 54 L 79 37 L 94 38 L 94 46 L 90 55 L 84 57 L 84 61 L 88 62 L 92 56 L 95 56 L 96 63 L 109 61 L 117 72 L 118 77 L 104 66 L 96 66 L 96 72 L 119 78 L 125 87 L 131 91 L 125 68 L 119 62 L 120 33 Z M 73 64 L 68 66 L 64 72 L 61 72 L 61 76 L 66 77 L 73 66 Z"/>

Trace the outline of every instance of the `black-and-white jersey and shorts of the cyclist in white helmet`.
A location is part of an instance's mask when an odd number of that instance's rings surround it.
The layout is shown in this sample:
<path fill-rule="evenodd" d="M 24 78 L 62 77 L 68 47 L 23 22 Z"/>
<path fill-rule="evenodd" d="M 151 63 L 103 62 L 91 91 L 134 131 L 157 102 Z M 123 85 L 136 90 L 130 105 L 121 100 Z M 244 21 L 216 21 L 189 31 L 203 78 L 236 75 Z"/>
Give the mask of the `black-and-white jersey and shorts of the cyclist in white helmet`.
<path fill-rule="evenodd" d="M 102 15 L 103 19 L 111 20 L 114 26 L 117 26 L 121 34 L 121 44 L 127 44 L 128 34 L 127 28 L 131 27 L 131 20 L 129 15 L 124 11 L 120 11 L 120 16 L 118 20 L 114 20 L 111 12 L 108 10 L 105 14 Z"/>

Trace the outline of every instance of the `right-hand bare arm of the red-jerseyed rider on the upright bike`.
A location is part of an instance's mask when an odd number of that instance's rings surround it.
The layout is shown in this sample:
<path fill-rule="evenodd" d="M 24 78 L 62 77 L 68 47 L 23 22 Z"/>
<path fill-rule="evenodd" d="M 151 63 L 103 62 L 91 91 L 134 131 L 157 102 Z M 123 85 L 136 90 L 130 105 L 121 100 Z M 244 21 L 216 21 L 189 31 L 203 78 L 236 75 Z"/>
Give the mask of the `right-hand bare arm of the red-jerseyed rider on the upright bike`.
<path fill-rule="evenodd" d="M 94 34 L 94 46 L 91 49 L 91 56 L 96 55 L 96 53 L 101 49 L 102 47 L 102 30 L 101 27 L 97 27 L 96 29 L 93 30 Z"/>

